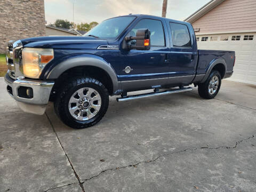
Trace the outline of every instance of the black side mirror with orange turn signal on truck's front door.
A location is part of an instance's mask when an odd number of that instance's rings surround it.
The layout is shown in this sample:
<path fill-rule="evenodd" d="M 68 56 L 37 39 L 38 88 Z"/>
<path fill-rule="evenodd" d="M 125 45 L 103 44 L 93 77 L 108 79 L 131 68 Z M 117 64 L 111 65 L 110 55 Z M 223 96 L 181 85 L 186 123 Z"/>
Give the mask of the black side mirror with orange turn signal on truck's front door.
<path fill-rule="evenodd" d="M 129 45 L 128 42 L 136 40 L 136 45 Z M 150 50 L 150 30 L 138 29 L 136 37 L 125 37 L 123 41 L 123 49 L 131 50 Z"/>

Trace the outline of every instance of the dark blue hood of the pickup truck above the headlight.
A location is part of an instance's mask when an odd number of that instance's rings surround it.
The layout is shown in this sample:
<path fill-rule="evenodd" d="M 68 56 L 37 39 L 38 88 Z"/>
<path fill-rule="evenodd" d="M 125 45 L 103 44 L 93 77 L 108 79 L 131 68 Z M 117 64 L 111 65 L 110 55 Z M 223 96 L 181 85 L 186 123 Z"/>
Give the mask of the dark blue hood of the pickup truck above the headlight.
<path fill-rule="evenodd" d="M 99 45 L 108 44 L 106 40 L 81 36 L 48 36 L 21 39 L 23 47 L 52 49 L 97 49 Z"/>

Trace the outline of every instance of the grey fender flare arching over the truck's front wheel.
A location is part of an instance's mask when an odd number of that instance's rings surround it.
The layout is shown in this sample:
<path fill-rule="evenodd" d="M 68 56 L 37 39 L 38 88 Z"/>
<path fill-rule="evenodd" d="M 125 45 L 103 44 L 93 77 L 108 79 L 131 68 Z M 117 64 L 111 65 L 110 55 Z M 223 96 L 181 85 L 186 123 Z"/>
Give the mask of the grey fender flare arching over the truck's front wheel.
<path fill-rule="evenodd" d="M 103 58 L 93 54 L 74 55 L 74 57 L 58 63 L 47 75 L 47 79 L 57 79 L 66 70 L 81 66 L 93 66 L 106 71 L 113 84 L 113 93 L 110 94 L 115 94 L 118 91 L 120 83 L 117 80 L 117 75 L 113 67 Z"/>

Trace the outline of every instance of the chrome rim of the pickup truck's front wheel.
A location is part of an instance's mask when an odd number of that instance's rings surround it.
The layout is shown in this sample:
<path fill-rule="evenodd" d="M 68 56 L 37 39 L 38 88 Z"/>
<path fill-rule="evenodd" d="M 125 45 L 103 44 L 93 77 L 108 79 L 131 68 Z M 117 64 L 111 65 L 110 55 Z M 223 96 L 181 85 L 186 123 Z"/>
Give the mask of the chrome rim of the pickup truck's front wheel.
<path fill-rule="evenodd" d="M 100 94 L 90 87 L 84 87 L 75 91 L 68 103 L 70 115 L 79 121 L 93 118 L 99 113 L 100 108 Z"/>

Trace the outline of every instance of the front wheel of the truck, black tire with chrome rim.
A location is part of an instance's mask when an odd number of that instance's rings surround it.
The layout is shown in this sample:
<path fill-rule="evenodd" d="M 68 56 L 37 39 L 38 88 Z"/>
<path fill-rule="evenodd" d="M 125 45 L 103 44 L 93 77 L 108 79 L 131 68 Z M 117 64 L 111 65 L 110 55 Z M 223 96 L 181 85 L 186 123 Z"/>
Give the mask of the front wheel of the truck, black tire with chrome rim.
<path fill-rule="evenodd" d="M 77 77 L 63 83 L 54 102 L 61 121 L 74 129 L 97 124 L 106 114 L 108 90 L 97 79 Z"/>

